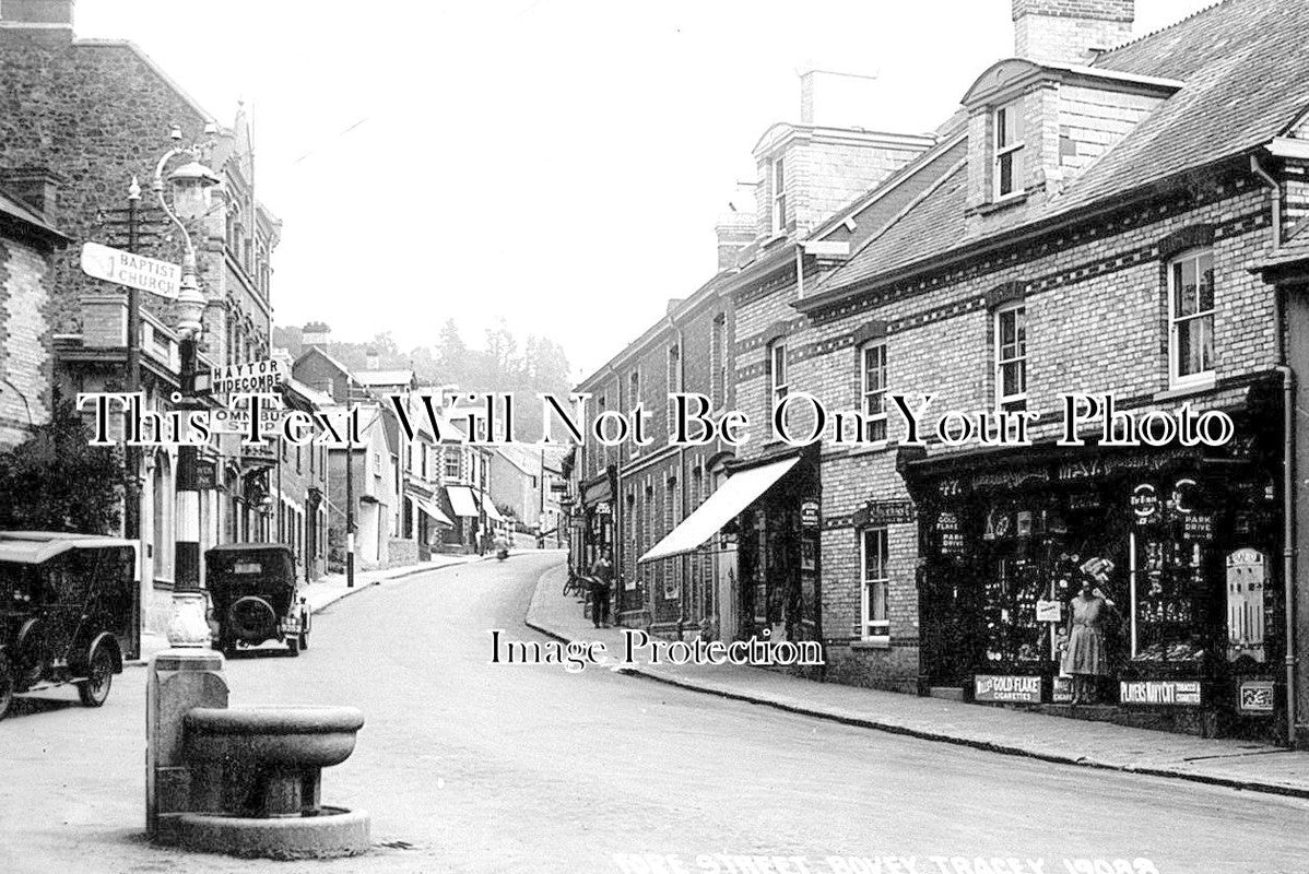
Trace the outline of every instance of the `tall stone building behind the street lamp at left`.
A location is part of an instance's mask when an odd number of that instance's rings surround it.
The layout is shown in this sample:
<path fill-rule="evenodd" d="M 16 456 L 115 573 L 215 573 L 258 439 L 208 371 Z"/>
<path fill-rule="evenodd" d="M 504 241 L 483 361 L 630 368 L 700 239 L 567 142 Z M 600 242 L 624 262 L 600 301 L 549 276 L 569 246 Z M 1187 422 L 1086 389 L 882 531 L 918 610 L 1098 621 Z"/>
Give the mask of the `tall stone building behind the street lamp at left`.
<path fill-rule="evenodd" d="M 203 216 L 188 221 L 198 272 L 208 298 L 203 314 L 202 372 L 270 353 L 271 253 L 280 225 L 254 196 L 249 127 L 238 114 L 230 128 L 213 123 L 177 82 L 126 41 L 79 39 L 73 0 L 0 3 L 0 179 L 24 188 L 29 205 L 59 226 L 72 245 L 54 253 L 50 294 L 39 318 L 52 378 L 68 393 L 128 387 L 128 335 L 140 338 L 140 389 L 145 407 L 168 412 L 178 387 L 179 357 L 171 305 L 140 294 L 130 324 L 120 287 L 86 276 L 81 243 L 99 242 L 181 262 L 182 241 L 153 203 L 156 161 L 178 144 L 207 143 L 202 158 L 223 186 Z M 177 137 L 170 136 L 175 128 Z M 178 156 L 164 167 L 177 169 Z M 128 186 L 140 181 L 139 211 Z M 17 319 L 13 324 L 25 324 Z M 43 366 L 50 366 L 45 364 Z M 124 533 L 140 539 L 143 616 L 158 629 L 166 619 L 177 542 L 175 449 L 131 455 L 136 488 L 124 506 Z M 262 513 L 275 459 L 258 447 L 216 440 L 202 450 L 200 547 L 267 530 Z M 211 480 L 207 475 L 213 471 Z M 202 570 L 203 573 L 203 570 Z"/>

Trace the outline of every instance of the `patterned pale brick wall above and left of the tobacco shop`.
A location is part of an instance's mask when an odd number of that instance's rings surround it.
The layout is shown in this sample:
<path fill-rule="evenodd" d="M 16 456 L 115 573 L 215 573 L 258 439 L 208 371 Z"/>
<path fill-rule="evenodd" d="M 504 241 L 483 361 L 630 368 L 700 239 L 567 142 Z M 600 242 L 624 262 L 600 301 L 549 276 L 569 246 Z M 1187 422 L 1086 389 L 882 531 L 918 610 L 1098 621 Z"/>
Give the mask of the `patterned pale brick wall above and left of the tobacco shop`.
<path fill-rule="evenodd" d="M 986 294 L 1014 281 L 1026 288 L 1028 390 L 1030 410 L 1058 412 L 1066 391 L 1110 391 L 1144 407 L 1175 408 L 1179 400 L 1152 400 L 1168 389 L 1168 300 L 1160 243 L 1185 228 L 1211 225 L 1215 258 L 1216 376 L 1259 373 L 1275 364 L 1272 294 L 1246 267 L 1270 246 L 1267 192 L 1238 175 L 1212 179 L 1208 194 L 1179 195 L 1088 224 L 984 263 L 965 266 L 915 285 L 869 296 L 857 313 L 822 311 L 792 336 L 792 390 L 816 394 L 829 408 L 850 410 L 859 386 L 852 334 L 870 321 L 888 326 L 888 383 L 891 391 L 931 391 L 933 410 L 982 410 L 991 404 L 992 315 Z M 949 349 L 950 355 L 941 355 Z M 1207 408 L 1229 400 L 1213 391 L 1189 398 Z M 898 415 L 888 419 L 885 447 L 825 446 L 823 629 L 834 645 L 836 679 L 908 688 L 916 671 L 918 625 L 912 525 L 890 526 L 891 586 L 889 650 L 848 646 L 859 621 L 859 542 L 848 517 L 870 498 L 905 498 L 894 468 L 903 437 Z M 1033 429 L 1041 440 L 1058 420 Z M 948 451 L 932 446 L 931 451 Z"/>

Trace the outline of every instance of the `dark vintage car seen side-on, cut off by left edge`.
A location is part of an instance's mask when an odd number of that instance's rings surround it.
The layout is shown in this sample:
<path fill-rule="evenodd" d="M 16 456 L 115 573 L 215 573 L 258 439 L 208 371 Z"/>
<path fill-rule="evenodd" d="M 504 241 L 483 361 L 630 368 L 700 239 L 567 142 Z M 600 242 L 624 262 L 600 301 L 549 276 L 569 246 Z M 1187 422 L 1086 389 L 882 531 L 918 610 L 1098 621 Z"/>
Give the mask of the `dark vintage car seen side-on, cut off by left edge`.
<path fill-rule="evenodd" d="M 102 705 L 132 648 L 135 594 L 128 540 L 0 533 L 0 717 L 14 695 L 65 683 Z"/>

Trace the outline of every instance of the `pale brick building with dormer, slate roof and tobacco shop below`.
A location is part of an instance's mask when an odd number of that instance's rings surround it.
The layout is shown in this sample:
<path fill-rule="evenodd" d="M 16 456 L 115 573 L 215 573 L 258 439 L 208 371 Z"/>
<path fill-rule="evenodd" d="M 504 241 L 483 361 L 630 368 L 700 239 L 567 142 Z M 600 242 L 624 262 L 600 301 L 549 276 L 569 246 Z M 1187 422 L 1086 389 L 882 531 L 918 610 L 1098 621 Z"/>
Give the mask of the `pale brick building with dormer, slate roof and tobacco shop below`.
<path fill-rule="evenodd" d="M 1283 447 L 1255 425 L 1282 421 L 1284 344 L 1251 270 L 1304 215 L 1306 107 L 1267 82 L 1309 18 L 1233 0 L 1110 51 L 1088 41 L 1122 42 L 1132 4 L 1073 5 L 1014 1 L 1028 56 L 967 89 L 966 158 L 796 306 L 792 383 L 880 423 L 822 449 L 829 678 L 982 700 L 1039 678 L 1021 700 L 1063 701 L 1047 619 L 1101 559 L 1123 612 L 1105 718 L 1287 737 Z M 907 446 L 897 391 L 1026 411 L 1035 445 Z M 1058 447 L 1064 393 L 1221 410 L 1237 438 Z M 1258 601 L 1224 593 L 1237 573 Z"/>

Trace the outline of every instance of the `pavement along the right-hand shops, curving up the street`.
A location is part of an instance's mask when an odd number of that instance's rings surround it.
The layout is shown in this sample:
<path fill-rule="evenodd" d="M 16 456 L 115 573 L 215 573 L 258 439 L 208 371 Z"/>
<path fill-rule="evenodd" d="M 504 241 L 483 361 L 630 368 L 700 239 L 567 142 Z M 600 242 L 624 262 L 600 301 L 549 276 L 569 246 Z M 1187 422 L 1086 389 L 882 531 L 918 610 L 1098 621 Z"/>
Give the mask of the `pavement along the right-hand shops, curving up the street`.
<path fill-rule="evenodd" d="M 541 577 L 526 624 L 564 641 L 602 641 L 610 653 L 622 653 L 622 631 L 593 628 L 590 620 L 583 618 L 581 603 L 562 594 L 563 574 L 564 568 L 559 567 Z M 1249 741 L 1208 741 L 983 704 L 816 683 L 758 667 L 636 665 L 618 670 L 792 713 L 1005 755 L 1309 798 L 1309 754 Z"/>

